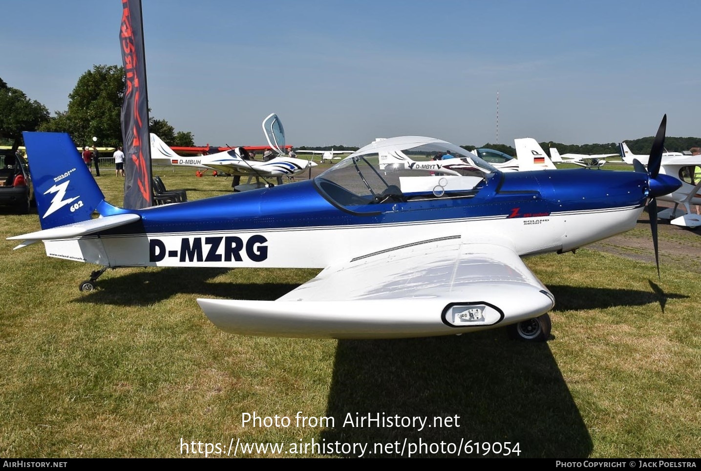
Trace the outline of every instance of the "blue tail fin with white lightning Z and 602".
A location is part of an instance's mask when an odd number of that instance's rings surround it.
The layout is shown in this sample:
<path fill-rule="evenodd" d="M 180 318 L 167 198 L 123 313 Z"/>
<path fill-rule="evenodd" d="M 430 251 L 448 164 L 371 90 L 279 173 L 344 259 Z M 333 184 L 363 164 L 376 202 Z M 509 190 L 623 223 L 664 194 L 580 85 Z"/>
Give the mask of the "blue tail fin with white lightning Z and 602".
<path fill-rule="evenodd" d="M 22 133 L 41 229 L 93 217 L 104 194 L 66 133 Z"/>

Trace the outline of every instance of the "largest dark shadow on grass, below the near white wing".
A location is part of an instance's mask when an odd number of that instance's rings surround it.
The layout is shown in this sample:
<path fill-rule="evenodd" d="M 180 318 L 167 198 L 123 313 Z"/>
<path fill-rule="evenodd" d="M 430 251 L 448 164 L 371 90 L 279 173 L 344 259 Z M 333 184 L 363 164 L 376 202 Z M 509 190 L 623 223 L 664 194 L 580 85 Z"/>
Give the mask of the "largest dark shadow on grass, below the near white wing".
<path fill-rule="evenodd" d="M 460 456 L 477 457 L 474 449 L 465 455 L 469 440 L 511 442 L 512 448 L 519 444 L 521 453 L 510 454 L 514 458 L 585 457 L 592 451 L 590 434 L 550 348 L 509 340 L 505 329 L 459 337 L 340 340 L 327 404 L 326 415 L 335 418 L 336 426 L 321 438 L 327 444 L 367 443 L 369 458 L 401 456 L 405 439 L 403 456 L 409 444 L 428 444 L 416 457 L 457 457 L 448 444 L 459 446 L 461 441 Z M 367 420 L 368 413 L 373 418 L 378 413 L 386 418 L 428 417 L 431 427 L 343 425 L 348 414 Z M 437 426 L 435 417 L 451 417 L 459 427 Z M 394 453 L 374 449 L 375 444 L 395 442 Z"/>

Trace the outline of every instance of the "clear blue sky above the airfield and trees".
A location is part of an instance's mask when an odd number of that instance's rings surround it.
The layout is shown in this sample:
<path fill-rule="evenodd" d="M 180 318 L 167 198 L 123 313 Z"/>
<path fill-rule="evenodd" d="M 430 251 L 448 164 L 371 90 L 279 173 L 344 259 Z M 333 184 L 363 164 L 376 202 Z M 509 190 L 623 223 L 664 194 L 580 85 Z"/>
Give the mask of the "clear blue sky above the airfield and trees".
<path fill-rule="evenodd" d="M 151 116 L 198 145 L 701 135 L 698 1 L 142 0 Z M 3 0 L 0 77 L 66 110 L 119 64 L 119 0 Z"/>

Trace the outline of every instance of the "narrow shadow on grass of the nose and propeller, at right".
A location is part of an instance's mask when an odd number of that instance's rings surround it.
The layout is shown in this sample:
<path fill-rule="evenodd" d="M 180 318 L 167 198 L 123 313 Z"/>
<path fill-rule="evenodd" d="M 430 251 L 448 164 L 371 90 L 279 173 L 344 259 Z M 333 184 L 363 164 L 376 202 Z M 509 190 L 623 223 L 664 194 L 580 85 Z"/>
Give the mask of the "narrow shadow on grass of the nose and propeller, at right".
<path fill-rule="evenodd" d="M 684 294 L 662 293 L 662 289 L 653 284 L 652 281 L 650 281 L 650 286 L 653 291 L 565 285 L 548 285 L 547 288 L 555 297 L 553 311 L 603 309 L 613 306 L 642 306 L 658 303 L 664 312 L 667 300 L 688 298 Z"/>

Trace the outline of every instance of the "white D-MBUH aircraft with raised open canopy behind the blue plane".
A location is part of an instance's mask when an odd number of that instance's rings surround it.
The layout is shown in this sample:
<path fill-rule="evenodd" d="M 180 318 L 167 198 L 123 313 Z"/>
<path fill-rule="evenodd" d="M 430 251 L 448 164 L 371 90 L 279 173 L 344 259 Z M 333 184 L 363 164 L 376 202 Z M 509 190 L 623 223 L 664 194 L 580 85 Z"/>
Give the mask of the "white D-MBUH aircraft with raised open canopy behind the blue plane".
<path fill-rule="evenodd" d="M 257 180 L 256 183 L 233 185 L 237 191 L 252 190 L 266 185 L 260 182 L 261 178 L 276 178 L 279 184 L 282 183 L 283 177 L 299 175 L 299 173 L 317 165 L 311 160 L 295 159 L 285 155 L 285 132 L 276 114 L 270 114 L 263 120 L 263 130 L 266 139 L 268 139 L 268 144 L 275 152 L 280 154 L 278 157 L 268 161 L 251 160 L 248 158 L 244 147 L 235 147 L 225 152 L 198 157 L 182 157 L 173 152 L 155 134 L 151 134 L 151 159 L 154 161 L 165 160 L 174 166 L 210 168 L 219 172 L 239 177 L 251 177 Z"/>

